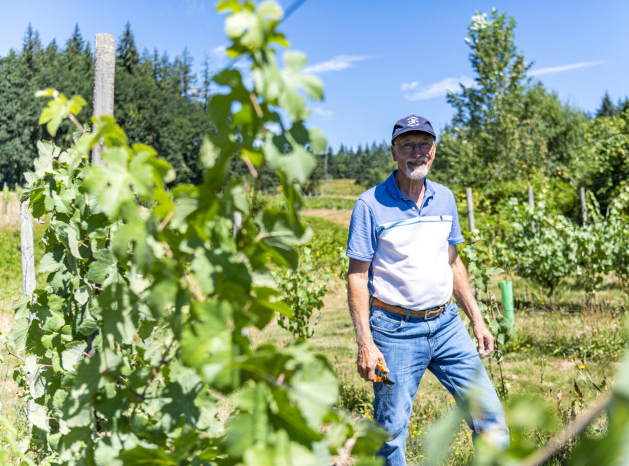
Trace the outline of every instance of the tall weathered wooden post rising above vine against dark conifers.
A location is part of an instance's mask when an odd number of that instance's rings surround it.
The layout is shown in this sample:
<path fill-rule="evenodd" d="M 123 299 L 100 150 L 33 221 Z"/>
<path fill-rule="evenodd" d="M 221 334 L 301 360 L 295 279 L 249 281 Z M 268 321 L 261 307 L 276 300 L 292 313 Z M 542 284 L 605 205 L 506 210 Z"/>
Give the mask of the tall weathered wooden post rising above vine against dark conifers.
<path fill-rule="evenodd" d="M 114 116 L 116 40 L 111 34 L 96 35 L 94 50 L 94 116 Z M 103 141 L 92 149 L 92 163 L 101 163 Z"/>

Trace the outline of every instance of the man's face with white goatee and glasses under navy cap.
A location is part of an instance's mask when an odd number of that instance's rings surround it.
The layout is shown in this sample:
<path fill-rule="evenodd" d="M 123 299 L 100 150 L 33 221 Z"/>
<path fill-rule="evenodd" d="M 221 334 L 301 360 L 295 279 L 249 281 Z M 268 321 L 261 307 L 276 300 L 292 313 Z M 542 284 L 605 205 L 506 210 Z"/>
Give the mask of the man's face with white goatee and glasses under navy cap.
<path fill-rule="evenodd" d="M 435 138 L 428 133 L 422 131 L 410 131 L 398 136 L 391 146 L 391 154 L 393 160 L 398 162 L 398 168 L 401 173 L 408 176 L 411 180 L 421 180 L 428 175 L 433 160 L 435 160 L 434 144 Z M 423 153 L 420 149 L 421 143 L 429 143 L 430 150 Z M 413 144 L 410 153 L 404 153 L 404 144 Z"/>

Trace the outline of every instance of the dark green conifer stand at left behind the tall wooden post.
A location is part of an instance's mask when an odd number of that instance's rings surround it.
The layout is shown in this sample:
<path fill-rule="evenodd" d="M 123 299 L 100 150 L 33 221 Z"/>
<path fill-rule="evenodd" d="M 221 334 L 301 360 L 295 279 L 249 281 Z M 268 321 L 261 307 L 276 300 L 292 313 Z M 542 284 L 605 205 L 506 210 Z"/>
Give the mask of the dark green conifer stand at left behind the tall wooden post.
<path fill-rule="evenodd" d="M 213 125 L 207 117 L 209 64 L 204 62 L 200 87 L 186 49 L 170 60 L 157 49 L 137 50 L 127 23 L 116 41 L 114 117 L 133 142 L 147 143 L 177 171 L 177 182 L 198 182 L 199 145 Z M 28 24 L 21 51 L 11 49 L 0 58 L 0 183 L 24 183 L 32 170 L 35 143 L 52 139 L 67 147 L 73 130 L 65 122 L 54 138 L 37 124 L 43 102 L 37 90 L 55 88 L 87 100 L 82 122 L 92 114 L 94 55 L 78 24 L 64 45 L 52 40 L 42 45 L 38 31 Z M 86 116 L 87 115 L 87 116 Z"/>

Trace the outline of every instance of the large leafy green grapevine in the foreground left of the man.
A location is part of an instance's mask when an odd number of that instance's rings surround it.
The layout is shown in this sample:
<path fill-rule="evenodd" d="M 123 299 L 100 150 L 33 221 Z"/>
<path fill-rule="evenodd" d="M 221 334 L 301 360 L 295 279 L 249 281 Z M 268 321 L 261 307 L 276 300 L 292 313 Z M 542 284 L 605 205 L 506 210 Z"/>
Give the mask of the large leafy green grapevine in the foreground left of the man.
<path fill-rule="evenodd" d="M 50 217 L 38 264 L 47 286 L 34 302 L 16 301 L 10 334 L 25 352 L 16 380 L 37 406 L 29 420 L 38 462 L 327 465 L 346 443 L 370 458 L 384 438 L 334 408 L 338 384 L 324 357 L 301 342 L 252 347 L 243 332 L 276 312 L 292 317 L 270 270 L 296 268 L 295 246 L 311 237 L 299 185 L 315 165 L 306 146 L 321 150 L 325 138 L 305 126 L 301 92 L 321 99 L 323 87 L 300 72 L 299 53 L 277 66 L 272 44 L 287 43 L 276 3 L 218 9 L 230 13 L 228 53 L 250 60 L 253 86 L 235 69 L 214 77 L 226 92 L 209 105 L 216 133 L 199 154 L 202 183 L 168 190 L 172 167 L 129 144 L 110 117 L 93 119 L 67 149 L 38 144 L 23 199 L 35 217 Z M 50 99 L 40 123 L 51 135 L 85 105 L 40 95 Z M 278 122 L 279 134 L 267 129 Z M 103 164 L 90 165 L 99 140 Z M 233 157 L 253 176 L 275 170 L 287 208 L 250 209 L 242 180 L 227 177 Z M 225 399 L 234 408 L 221 417 Z"/>

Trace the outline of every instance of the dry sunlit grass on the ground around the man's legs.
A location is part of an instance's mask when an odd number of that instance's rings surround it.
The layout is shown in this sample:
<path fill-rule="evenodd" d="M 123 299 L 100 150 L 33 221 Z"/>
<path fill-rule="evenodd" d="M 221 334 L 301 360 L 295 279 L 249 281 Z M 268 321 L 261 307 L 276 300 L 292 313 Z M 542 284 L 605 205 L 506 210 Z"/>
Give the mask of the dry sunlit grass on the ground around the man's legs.
<path fill-rule="evenodd" d="M 372 415 L 372 390 L 356 371 L 357 347 L 345 300 L 345 285 L 335 279 L 328 283 L 328 288 L 330 291 L 324 298 L 321 320 L 309 342 L 314 352 L 328 357 L 337 372 L 340 381 L 339 406 L 352 415 L 369 418 Z M 505 404 L 541 397 L 550 411 L 567 422 L 610 387 L 620 353 L 625 347 L 623 317 L 607 312 L 520 312 L 516 319 L 515 333 L 505 348 L 502 364 Z M 615 335 L 609 348 L 597 343 L 601 332 Z M 261 331 L 252 331 L 252 340 L 253 345 L 263 342 L 283 345 L 291 340 L 291 334 L 271 323 Z M 598 349 L 592 352 L 590 349 L 597 345 Z M 484 364 L 494 384 L 501 386 L 503 382 L 496 360 L 486 358 Z M 426 372 L 409 423 L 409 462 L 423 461 L 423 435 L 433 421 L 452 408 L 454 403 L 450 393 L 435 376 Z M 605 420 L 601 418 L 589 428 L 588 433 L 599 435 L 604 426 Z M 537 432 L 532 435 L 542 434 Z M 543 443 L 545 440 L 547 437 L 544 434 L 536 441 Z M 472 457 L 470 430 L 461 420 L 448 447 L 446 463 L 464 465 Z"/>

